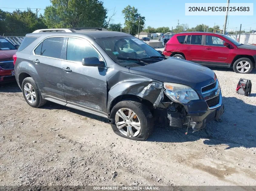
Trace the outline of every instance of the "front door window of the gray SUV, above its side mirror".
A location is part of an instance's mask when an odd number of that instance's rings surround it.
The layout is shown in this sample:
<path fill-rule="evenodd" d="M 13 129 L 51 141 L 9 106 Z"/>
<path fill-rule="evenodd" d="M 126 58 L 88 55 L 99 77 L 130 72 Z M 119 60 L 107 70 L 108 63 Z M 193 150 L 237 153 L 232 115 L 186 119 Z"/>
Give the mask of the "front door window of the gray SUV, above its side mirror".
<path fill-rule="evenodd" d="M 85 40 L 68 38 L 67 60 L 82 62 L 82 59 L 86 57 L 97 57 L 103 61 L 96 50 Z"/>

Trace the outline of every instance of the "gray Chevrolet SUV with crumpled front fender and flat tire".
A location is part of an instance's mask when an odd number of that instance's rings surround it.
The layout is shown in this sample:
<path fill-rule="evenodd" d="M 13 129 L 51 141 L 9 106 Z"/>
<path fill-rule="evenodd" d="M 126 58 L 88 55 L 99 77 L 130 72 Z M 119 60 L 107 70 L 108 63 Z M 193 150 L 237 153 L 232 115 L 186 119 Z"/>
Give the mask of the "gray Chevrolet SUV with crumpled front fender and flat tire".
<path fill-rule="evenodd" d="M 167 59 L 129 34 L 104 29 L 42 29 L 27 34 L 15 78 L 26 102 L 52 101 L 109 119 L 114 132 L 145 140 L 154 121 L 204 128 L 224 112 L 215 73 Z"/>

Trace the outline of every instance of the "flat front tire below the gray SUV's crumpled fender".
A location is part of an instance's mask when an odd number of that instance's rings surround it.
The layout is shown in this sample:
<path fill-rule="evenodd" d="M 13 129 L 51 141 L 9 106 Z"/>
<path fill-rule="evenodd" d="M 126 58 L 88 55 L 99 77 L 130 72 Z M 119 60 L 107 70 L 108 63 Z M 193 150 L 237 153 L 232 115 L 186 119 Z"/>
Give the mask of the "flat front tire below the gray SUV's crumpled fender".
<path fill-rule="evenodd" d="M 119 112 L 121 110 L 123 110 L 122 114 L 125 114 L 125 116 L 129 116 L 129 111 L 131 110 L 131 120 L 127 120 L 127 122 L 124 122 L 125 120 L 123 120 L 124 118 L 120 117 L 120 113 L 119 115 L 117 114 L 117 112 Z M 133 114 L 135 114 L 134 116 L 132 116 Z M 124 138 L 128 138 L 128 139 L 132 139 L 132 140 L 136 140 L 136 141 L 145 141 L 149 135 L 151 134 L 152 130 L 153 130 L 153 116 L 152 113 L 150 112 L 149 108 L 147 106 L 145 106 L 144 104 L 137 102 L 137 101 L 133 101 L 133 100 L 123 100 L 118 102 L 113 109 L 111 110 L 110 113 L 110 119 L 115 119 L 115 123 L 111 123 L 111 127 L 113 129 L 113 131 Z M 127 118 L 126 118 L 127 119 Z M 118 125 L 116 125 L 116 123 L 121 123 L 119 126 L 123 126 L 120 130 L 118 129 Z M 132 133 L 128 133 L 128 126 L 127 123 L 131 125 L 131 130 L 133 135 L 131 135 Z M 138 132 L 138 126 L 136 127 L 137 129 L 135 129 L 134 127 L 134 123 L 138 124 L 140 123 L 140 130 Z"/>

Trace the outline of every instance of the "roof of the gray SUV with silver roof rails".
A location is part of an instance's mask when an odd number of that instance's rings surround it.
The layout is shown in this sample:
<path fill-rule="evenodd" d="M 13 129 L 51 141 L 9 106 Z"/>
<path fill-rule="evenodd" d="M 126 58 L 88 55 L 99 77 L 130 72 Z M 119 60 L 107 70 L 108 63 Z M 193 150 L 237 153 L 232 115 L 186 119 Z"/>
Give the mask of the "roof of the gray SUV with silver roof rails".
<path fill-rule="evenodd" d="M 69 32 L 40 32 L 40 33 L 30 33 L 26 36 L 29 37 L 41 37 L 44 35 L 45 37 L 48 36 L 76 36 L 82 37 L 84 35 L 89 36 L 93 39 L 98 38 L 107 38 L 107 37 L 122 37 L 122 36 L 131 36 L 127 33 L 116 32 L 116 31 L 101 31 L 101 30 L 75 30 L 73 33 Z"/>

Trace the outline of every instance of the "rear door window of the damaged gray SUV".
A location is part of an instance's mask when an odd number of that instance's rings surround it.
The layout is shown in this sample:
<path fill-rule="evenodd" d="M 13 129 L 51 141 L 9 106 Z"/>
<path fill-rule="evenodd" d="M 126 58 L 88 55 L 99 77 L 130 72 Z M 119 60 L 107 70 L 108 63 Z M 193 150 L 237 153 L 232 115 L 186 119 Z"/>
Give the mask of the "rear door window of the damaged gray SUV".
<path fill-rule="evenodd" d="M 64 59 L 65 38 L 53 37 L 43 41 L 41 56 Z"/>

